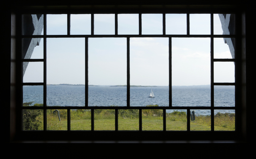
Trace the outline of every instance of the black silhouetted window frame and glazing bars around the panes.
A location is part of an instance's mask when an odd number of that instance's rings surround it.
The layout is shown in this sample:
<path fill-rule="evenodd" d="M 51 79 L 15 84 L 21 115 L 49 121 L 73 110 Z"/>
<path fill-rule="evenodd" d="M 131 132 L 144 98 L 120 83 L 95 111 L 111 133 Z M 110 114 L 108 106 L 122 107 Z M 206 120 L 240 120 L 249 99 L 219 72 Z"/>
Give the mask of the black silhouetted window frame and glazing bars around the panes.
<path fill-rule="evenodd" d="M 140 15 L 142 13 L 177 13 L 177 10 L 179 12 L 186 12 L 188 14 L 192 14 L 192 13 L 209 13 L 211 15 L 213 15 L 214 13 L 221 13 L 221 12 L 228 12 L 228 13 L 234 13 L 236 14 L 236 30 L 237 30 L 237 34 L 236 35 L 227 35 L 227 37 L 235 37 L 236 38 L 236 50 L 242 50 L 242 41 L 241 41 L 241 34 L 240 34 L 240 30 L 241 30 L 241 23 L 240 23 L 240 19 L 241 19 L 241 13 L 238 12 L 238 11 L 235 11 L 234 9 L 230 9 L 227 11 L 227 9 L 223 9 L 223 10 L 219 10 L 219 9 L 212 9 L 212 10 L 207 10 L 207 9 L 201 9 L 201 10 L 198 10 L 198 9 L 182 9 L 182 8 L 176 8 L 175 10 L 172 10 L 170 11 L 169 9 L 166 9 L 165 11 L 160 11 L 158 9 L 155 9 L 154 11 L 152 11 L 151 9 L 135 9 L 133 10 L 133 13 L 140 13 Z M 16 21 L 16 26 L 19 26 L 19 24 L 21 24 L 21 15 L 22 14 L 36 14 L 36 13 L 44 13 L 44 14 L 54 14 L 54 13 L 67 13 L 70 14 L 70 13 L 85 13 L 84 10 L 69 10 L 69 9 L 60 9 L 60 10 L 52 10 L 52 9 L 49 9 L 49 10 L 45 10 L 45 9 L 42 9 L 42 10 L 34 10 L 33 7 L 32 9 L 30 8 L 30 10 L 26 10 L 25 12 L 22 10 L 20 12 L 17 12 L 16 13 L 16 16 L 17 16 L 17 21 Z M 113 9 L 89 9 L 88 13 L 114 13 L 116 14 L 117 11 L 113 11 Z M 131 11 L 123 11 L 123 13 L 131 13 Z M 116 14 L 117 16 L 117 14 Z M 44 18 L 46 18 L 46 16 L 44 16 Z M 46 21 L 44 20 L 44 23 Z M 163 21 L 164 23 L 164 21 Z M 20 25 L 21 26 L 21 25 Z M 164 25 L 163 25 L 164 26 Z M 18 40 L 18 39 L 22 39 L 22 37 L 29 37 L 29 36 L 24 36 L 24 35 L 21 35 L 21 29 L 16 27 L 17 30 L 17 40 L 16 40 L 16 43 L 17 43 L 17 50 L 21 50 L 21 40 Z M 163 30 L 164 27 L 163 27 Z M 189 29 L 188 29 L 189 30 Z M 213 28 L 211 28 L 211 30 L 213 30 Z M 44 44 L 46 44 L 46 38 L 45 37 L 51 37 L 51 35 L 46 35 L 46 29 L 44 29 L 44 35 L 38 35 L 38 36 L 35 36 L 33 35 L 33 37 L 44 37 L 43 40 L 44 40 Z M 140 25 L 140 33 L 141 33 L 141 25 Z M 163 32 L 165 33 L 165 31 Z M 69 35 L 67 35 L 69 36 Z M 79 35 L 75 35 L 77 37 L 80 37 Z M 97 37 L 97 36 L 101 36 L 101 35 L 94 35 L 94 37 Z M 110 36 L 113 36 L 113 35 L 103 35 L 105 37 L 110 37 Z M 124 35 L 117 35 L 117 29 L 116 29 L 116 32 L 115 32 L 115 37 L 123 37 Z M 132 35 L 133 36 L 133 35 Z M 140 37 L 141 34 L 138 35 L 138 37 Z M 152 35 L 143 35 L 145 37 L 152 37 Z M 159 37 L 159 35 L 155 35 L 156 37 Z M 164 35 L 163 35 L 164 36 Z M 166 35 L 167 37 L 168 35 Z M 178 36 L 178 37 L 183 37 L 183 35 L 175 35 L 175 36 Z M 198 37 L 197 35 L 189 35 L 190 37 Z M 200 35 L 200 36 L 204 36 L 204 35 Z M 226 35 L 224 35 L 226 36 Z M 59 37 L 65 37 L 65 35 L 59 35 Z M 101 36 L 102 37 L 102 36 Z M 134 36 L 133 36 L 134 37 Z M 188 37 L 188 35 L 184 35 L 184 37 Z M 213 37 L 223 37 L 223 35 L 210 35 L 209 36 L 211 39 L 213 39 Z M 88 39 L 88 38 L 87 38 Z M 88 42 L 88 40 L 87 40 Z M 128 42 L 127 42 L 128 44 Z M 212 45 L 212 43 L 211 43 Z M 213 48 L 213 47 L 211 47 Z M 170 48 L 169 48 L 170 49 Z M 45 49 L 46 50 L 46 46 L 45 46 Z M 211 50 L 212 51 L 212 50 Z M 88 50 L 87 50 L 87 55 L 88 55 Z M 129 54 L 128 54 L 129 55 Z M 127 58 L 129 58 L 127 55 Z M 236 51 L 236 57 L 240 57 L 242 56 L 242 51 Z M 237 139 L 242 139 L 242 132 L 243 132 L 243 126 L 244 124 L 242 123 L 242 112 L 240 112 L 242 110 L 242 94 L 240 93 L 242 91 L 242 79 L 239 78 L 239 77 L 242 77 L 242 62 L 241 62 L 241 59 L 240 58 L 235 58 L 235 62 L 236 62 L 236 65 L 235 65 L 235 75 L 236 75 L 236 82 L 235 82 L 235 87 L 236 87 L 236 130 L 235 131 L 232 131 L 232 132 L 222 132 L 222 131 L 214 131 L 213 130 L 213 120 L 212 121 L 212 126 L 211 126 L 211 131 L 204 131 L 204 132 L 198 132 L 198 131 L 190 131 L 189 130 L 189 127 L 187 129 L 187 131 L 150 131 L 150 132 L 144 132 L 144 131 L 135 131 L 135 132 L 131 132 L 131 131 L 46 131 L 46 124 L 45 124 L 45 127 L 44 127 L 44 131 L 22 131 L 21 130 L 21 122 L 22 120 L 20 120 L 22 118 L 22 115 L 21 115 L 21 110 L 23 108 L 21 108 L 21 104 L 22 104 L 22 75 L 21 75 L 21 71 L 20 67 L 22 65 L 22 58 L 19 58 L 20 56 L 20 52 L 19 51 L 16 51 L 16 76 L 17 76 L 17 79 L 18 81 L 16 81 L 16 131 L 15 131 L 15 134 L 17 136 L 19 136 L 18 138 L 21 139 L 21 140 L 42 140 L 42 136 L 44 136 L 43 140 L 85 140 L 85 141 L 88 141 L 88 140 L 95 140 L 95 141 L 106 141 L 106 140 L 147 140 L 148 138 L 151 138 L 151 140 L 161 140 L 161 141 L 166 141 L 166 140 L 169 140 L 169 141 L 175 141 L 175 140 L 191 140 L 191 139 L 194 139 L 194 140 L 237 140 Z M 212 56 L 211 56 L 212 57 Z M 44 59 L 46 58 L 46 54 L 44 54 Z M 27 60 L 27 61 L 40 61 L 40 60 Z M 211 59 L 212 62 L 214 62 L 213 59 Z M 216 60 L 215 60 L 216 61 Z M 218 61 L 218 60 L 217 60 Z M 220 60 L 220 61 L 223 61 L 223 60 Z M 233 61 L 233 59 L 231 60 L 228 60 L 228 61 Z M 45 61 L 44 61 L 45 62 Z M 170 60 L 169 60 L 170 62 Z M 46 62 L 45 62 L 46 64 Z M 169 64 L 171 65 L 171 64 Z M 213 65 L 213 64 L 211 64 Z M 127 63 L 127 66 L 129 66 L 129 63 Z M 46 66 L 45 66 L 46 67 Z M 169 68 L 171 68 L 169 66 Z M 213 68 L 213 67 L 212 67 Z M 170 70 L 170 69 L 169 69 Z M 128 67 L 128 70 L 127 72 L 129 71 L 129 67 Z M 211 71 L 211 74 L 213 73 L 213 71 Z M 46 72 L 44 71 L 44 77 L 46 78 Z M 127 73 L 128 75 L 128 73 Z M 169 73 L 169 78 L 171 76 L 171 72 Z M 88 79 L 88 77 L 86 77 Z M 212 78 L 212 77 L 211 77 Z M 128 76 L 127 76 L 127 79 Z M 44 81 L 46 81 L 46 79 L 44 79 Z M 128 81 L 128 80 L 127 80 Z M 211 80 L 213 81 L 213 80 Z M 30 85 L 31 83 L 28 83 L 27 85 Z M 37 85 L 35 83 L 33 83 L 34 85 Z M 26 85 L 26 84 L 25 84 Z M 41 85 L 41 83 L 40 83 Z M 88 83 L 86 84 L 88 85 Z M 222 85 L 220 83 L 218 83 L 217 85 Z M 226 85 L 226 84 L 224 84 Z M 213 87 L 214 84 L 211 84 L 211 87 Z M 127 88 L 129 87 L 129 84 L 127 83 Z M 171 89 L 169 89 L 170 93 L 171 94 Z M 129 89 L 127 89 L 127 94 L 129 94 Z M 211 94 L 211 97 L 213 94 Z M 44 96 L 46 96 L 46 82 L 44 82 Z M 88 94 L 87 94 L 88 96 Z M 19 98 L 18 98 L 19 97 Z M 128 97 L 127 97 L 128 98 Z M 44 99 L 45 100 L 45 99 Z M 171 98 L 169 99 L 170 100 L 170 103 L 171 103 Z M 211 100 L 213 101 L 213 100 Z M 44 102 L 46 103 L 46 102 Z M 212 109 L 214 110 L 213 108 L 213 104 L 211 104 L 212 106 L 211 107 L 199 107 L 198 109 Z M 241 106 L 237 106 L 237 105 L 241 105 Z M 46 105 L 44 106 L 44 113 L 46 114 L 46 109 L 48 109 L 49 107 L 46 107 Z M 55 108 L 55 107 L 50 107 L 50 108 Z M 91 108 L 91 107 L 83 107 L 84 109 L 94 109 L 94 108 Z M 109 107 L 97 107 L 97 108 L 101 108 L 101 109 L 110 109 Z M 125 107 L 125 109 L 128 108 L 129 109 L 129 106 Z M 26 107 L 26 109 L 38 109 L 38 108 L 35 108 L 35 107 Z M 58 107 L 58 109 L 60 109 Z M 69 107 L 63 107 L 61 109 L 71 109 Z M 74 107 L 72 107 L 72 109 L 74 109 Z M 117 109 L 120 109 L 119 108 L 115 108 L 116 110 Z M 136 107 L 132 107 L 131 109 L 137 109 Z M 139 108 L 140 110 L 141 109 L 145 109 L 145 107 L 142 107 L 142 108 Z M 162 107 L 158 107 L 156 109 L 170 109 L 170 108 L 162 108 Z M 174 108 L 176 109 L 176 108 Z M 190 110 L 190 109 L 197 109 L 195 107 L 179 107 L 179 109 L 187 109 L 187 110 Z M 220 109 L 219 107 L 217 109 Z M 69 112 L 69 111 L 68 111 Z M 165 113 L 164 113 L 165 114 Z M 70 117 L 70 114 L 68 114 L 68 116 Z M 211 115 L 211 118 L 213 119 L 213 111 L 212 111 L 212 115 Z M 165 120 L 165 119 L 164 119 Z M 70 119 L 69 119 L 70 121 Z M 188 121 L 189 121 L 189 116 L 188 116 Z M 117 121 L 116 121 L 117 122 Z M 141 122 L 141 121 L 140 121 Z M 44 118 L 44 123 L 46 123 L 46 118 Z M 69 122 L 68 122 L 69 123 Z M 165 122 L 164 122 L 165 123 Z M 70 124 L 68 124 L 68 127 L 70 128 Z M 37 134 L 37 135 L 35 135 Z M 68 136 L 67 136 L 68 134 Z M 32 137 L 33 136 L 33 137 Z M 56 138 L 56 136 L 58 136 Z M 154 136 L 154 138 L 152 138 L 152 136 Z M 173 136 L 175 136 L 175 139 L 173 138 Z M 207 137 L 205 137 L 207 136 Z M 237 137 L 237 136 L 241 136 L 241 137 Z"/>

